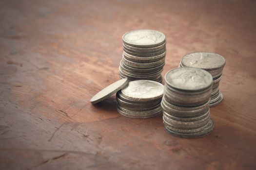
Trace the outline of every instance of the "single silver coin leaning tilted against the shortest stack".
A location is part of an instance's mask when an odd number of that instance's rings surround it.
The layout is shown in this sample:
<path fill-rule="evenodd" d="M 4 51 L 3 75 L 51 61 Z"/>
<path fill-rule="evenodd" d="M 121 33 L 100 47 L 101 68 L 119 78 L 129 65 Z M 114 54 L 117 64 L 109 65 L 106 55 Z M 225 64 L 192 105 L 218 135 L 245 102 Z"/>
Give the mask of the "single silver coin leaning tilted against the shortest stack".
<path fill-rule="evenodd" d="M 122 89 L 125 85 L 128 84 L 128 79 L 121 79 L 117 82 L 103 88 L 101 91 L 99 91 L 95 96 L 93 96 L 90 100 L 91 103 L 95 104 L 98 102 L 101 102 L 108 98 L 109 96 L 115 94 L 120 89 Z"/>

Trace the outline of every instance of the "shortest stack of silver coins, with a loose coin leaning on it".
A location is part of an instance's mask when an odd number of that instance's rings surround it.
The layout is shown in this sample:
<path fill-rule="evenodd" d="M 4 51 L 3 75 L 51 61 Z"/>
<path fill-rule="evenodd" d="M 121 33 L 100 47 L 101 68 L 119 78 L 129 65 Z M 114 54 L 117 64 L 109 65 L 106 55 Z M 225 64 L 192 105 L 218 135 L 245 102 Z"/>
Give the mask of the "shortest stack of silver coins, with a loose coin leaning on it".
<path fill-rule="evenodd" d="M 163 85 L 149 80 L 131 81 L 117 93 L 118 112 L 129 118 L 151 118 L 162 113 Z"/>

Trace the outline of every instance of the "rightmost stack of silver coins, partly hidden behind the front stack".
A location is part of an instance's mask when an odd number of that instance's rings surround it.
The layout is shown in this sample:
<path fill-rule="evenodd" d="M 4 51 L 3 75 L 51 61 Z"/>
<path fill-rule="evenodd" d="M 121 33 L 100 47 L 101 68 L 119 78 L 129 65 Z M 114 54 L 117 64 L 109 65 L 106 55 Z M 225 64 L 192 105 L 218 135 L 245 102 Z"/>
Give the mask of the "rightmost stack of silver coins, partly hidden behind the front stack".
<path fill-rule="evenodd" d="M 213 76 L 213 89 L 211 93 L 210 107 L 219 104 L 223 96 L 218 89 L 222 70 L 226 60 L 219 54 L 212 52 L 192 52 L 181 58 L 179 67 L 202 68 Z"/>

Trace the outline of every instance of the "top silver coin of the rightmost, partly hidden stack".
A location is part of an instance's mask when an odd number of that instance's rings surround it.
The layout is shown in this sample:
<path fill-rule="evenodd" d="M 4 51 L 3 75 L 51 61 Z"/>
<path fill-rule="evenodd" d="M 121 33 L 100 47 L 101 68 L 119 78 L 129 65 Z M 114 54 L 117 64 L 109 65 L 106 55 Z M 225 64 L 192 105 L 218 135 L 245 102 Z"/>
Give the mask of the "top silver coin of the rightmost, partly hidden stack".
<path fill-rule="evenodd" d="M 181 63 L 187 67 L 206 70 L 223 68 L 226 64 L 224 57 L 213 52 L 192 52 L 181 58 Z"/>

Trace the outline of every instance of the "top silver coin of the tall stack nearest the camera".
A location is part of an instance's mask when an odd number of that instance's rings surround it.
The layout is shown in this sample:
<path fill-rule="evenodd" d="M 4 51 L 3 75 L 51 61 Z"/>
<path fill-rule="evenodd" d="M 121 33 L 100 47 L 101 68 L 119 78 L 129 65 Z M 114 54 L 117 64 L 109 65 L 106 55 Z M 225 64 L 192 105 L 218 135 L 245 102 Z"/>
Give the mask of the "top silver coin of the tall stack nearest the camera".
<path fill-rule="evenodd" d="M 212 86 L 213 77 L 199 68 L 175 68 L 165 74 L 165 82 L 175 89 L 201 91 Z"/>

